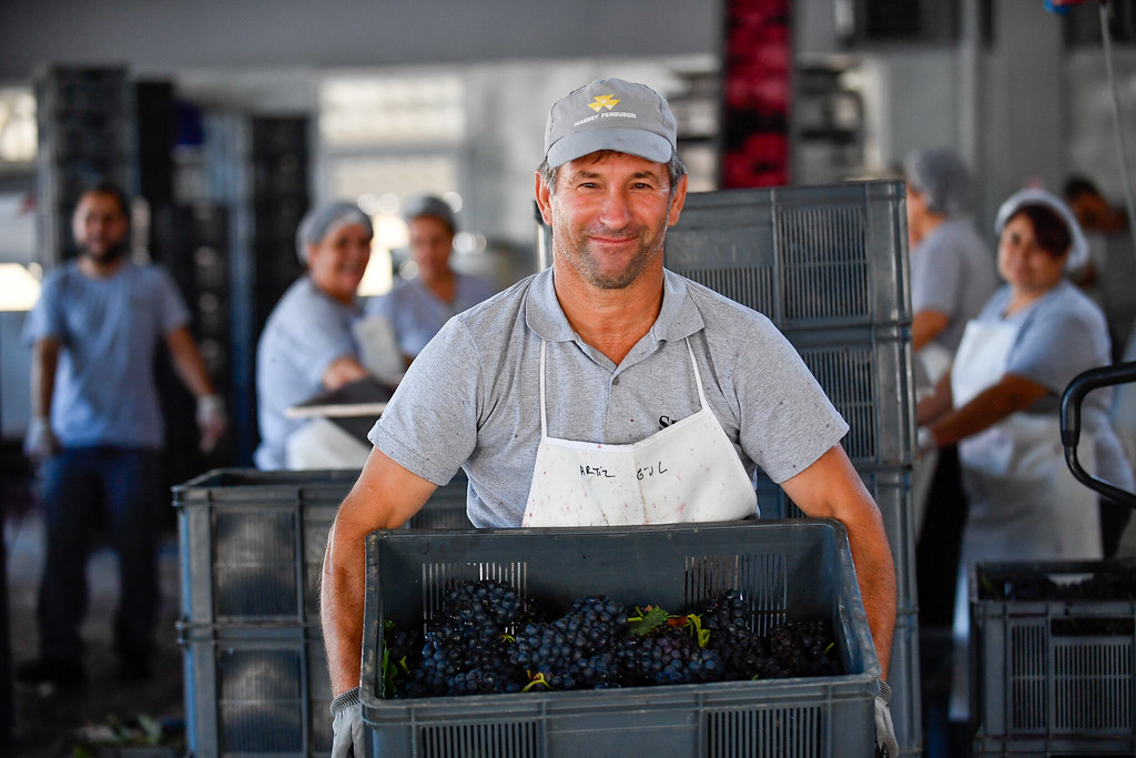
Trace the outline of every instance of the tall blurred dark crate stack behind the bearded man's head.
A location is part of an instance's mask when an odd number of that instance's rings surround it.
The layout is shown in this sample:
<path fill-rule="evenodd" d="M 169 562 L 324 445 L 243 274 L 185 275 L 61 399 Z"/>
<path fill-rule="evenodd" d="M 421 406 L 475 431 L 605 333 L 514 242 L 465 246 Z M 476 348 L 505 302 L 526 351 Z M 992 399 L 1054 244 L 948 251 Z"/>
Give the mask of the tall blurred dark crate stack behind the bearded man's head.
<path fill-rule="evenodd" d="M 56 266 L 72 255 L 70 216 L 95 181 L 135 189 L 134 89 L 126 69 L 52 66 L 35 77 L 37 245 Z"/>

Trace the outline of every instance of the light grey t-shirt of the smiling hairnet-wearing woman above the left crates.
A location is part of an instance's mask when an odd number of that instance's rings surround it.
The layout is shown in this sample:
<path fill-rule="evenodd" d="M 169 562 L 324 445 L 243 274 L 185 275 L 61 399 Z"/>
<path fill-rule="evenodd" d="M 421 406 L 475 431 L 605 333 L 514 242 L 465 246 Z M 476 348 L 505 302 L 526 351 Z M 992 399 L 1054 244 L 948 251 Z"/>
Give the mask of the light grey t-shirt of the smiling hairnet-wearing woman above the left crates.
<path fill-rule="evenodd" d="M 359 356 L 351 331 L 359 313 L 320 292 L 308 276 L 276 303 L 257 344 L 257 468 L 284 468 L 287 438 L 306 423 L 285 411 L 324 389 L 333 363 Z"/>

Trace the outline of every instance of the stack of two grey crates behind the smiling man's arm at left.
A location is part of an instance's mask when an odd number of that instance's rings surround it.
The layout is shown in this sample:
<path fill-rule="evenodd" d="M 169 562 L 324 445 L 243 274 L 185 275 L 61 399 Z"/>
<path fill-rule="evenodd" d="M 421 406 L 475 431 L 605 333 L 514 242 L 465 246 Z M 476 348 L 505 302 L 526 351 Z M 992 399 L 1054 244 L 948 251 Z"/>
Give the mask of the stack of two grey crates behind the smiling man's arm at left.
<path fill-rule="evenodd" d="M 216 469 L 174 488 L 193 758 L 329 753 L 319 575 L 358 475 Z M 459 475 L 438 488 L 410 527 L 473 528 L 466 486 Z"/>

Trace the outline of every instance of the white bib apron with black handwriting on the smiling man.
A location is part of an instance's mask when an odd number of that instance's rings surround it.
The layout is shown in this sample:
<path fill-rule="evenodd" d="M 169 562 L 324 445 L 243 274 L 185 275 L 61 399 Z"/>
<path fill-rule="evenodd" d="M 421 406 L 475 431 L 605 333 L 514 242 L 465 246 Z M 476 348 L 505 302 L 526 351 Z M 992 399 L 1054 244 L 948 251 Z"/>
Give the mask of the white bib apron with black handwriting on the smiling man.
<path fill-rule="evenodd" d="M 744 518 L 753 482 L 702 391 L 701 409 L 632 444 L 550 438 L 541 344 L 541 444 L 521 526 L 673 524 Z"/>

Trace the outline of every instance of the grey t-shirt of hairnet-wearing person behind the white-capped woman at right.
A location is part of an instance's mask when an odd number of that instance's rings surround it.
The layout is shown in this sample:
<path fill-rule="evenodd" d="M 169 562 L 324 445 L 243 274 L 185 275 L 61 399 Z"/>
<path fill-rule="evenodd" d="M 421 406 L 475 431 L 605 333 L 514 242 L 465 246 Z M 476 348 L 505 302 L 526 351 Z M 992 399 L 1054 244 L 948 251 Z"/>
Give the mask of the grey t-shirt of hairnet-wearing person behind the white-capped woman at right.
<path fill-rule="evenodd" d="M 969 218 L 949 218 L 911 251 L 911 308 L 946 316 L 935 342 L 952 355 L 997 285 L 994 255 Z"/>

